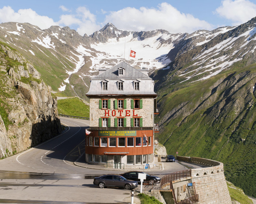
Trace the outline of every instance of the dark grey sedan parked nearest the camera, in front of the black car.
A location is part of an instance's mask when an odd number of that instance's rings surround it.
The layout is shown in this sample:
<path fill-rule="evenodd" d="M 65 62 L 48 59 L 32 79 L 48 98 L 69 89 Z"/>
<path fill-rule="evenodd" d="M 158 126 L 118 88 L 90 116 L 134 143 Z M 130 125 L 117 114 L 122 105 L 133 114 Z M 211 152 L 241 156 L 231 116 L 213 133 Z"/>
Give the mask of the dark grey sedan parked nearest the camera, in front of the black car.
<path fill-rule="evenodd" d="M 108 174 L 95 177 L 93 184 L 99 186 L 100 188 L 119 187 L 125 188 L 127 190 L 138 187 L 138 182 L 127 180 L 123 176 L 116 174 Z"/>

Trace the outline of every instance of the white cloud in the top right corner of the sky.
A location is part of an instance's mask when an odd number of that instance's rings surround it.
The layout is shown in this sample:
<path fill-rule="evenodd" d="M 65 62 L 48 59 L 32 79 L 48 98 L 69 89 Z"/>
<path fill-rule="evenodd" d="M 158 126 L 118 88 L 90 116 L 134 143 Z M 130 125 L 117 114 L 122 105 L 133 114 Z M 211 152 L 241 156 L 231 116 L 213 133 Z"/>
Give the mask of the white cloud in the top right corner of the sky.
<path fill-rule="evenodd" d="M 248 0 L 224 0 L 214 14 L 233 21 L 232 24 L 237 26 L 255 17 L 256 4 Z"/>

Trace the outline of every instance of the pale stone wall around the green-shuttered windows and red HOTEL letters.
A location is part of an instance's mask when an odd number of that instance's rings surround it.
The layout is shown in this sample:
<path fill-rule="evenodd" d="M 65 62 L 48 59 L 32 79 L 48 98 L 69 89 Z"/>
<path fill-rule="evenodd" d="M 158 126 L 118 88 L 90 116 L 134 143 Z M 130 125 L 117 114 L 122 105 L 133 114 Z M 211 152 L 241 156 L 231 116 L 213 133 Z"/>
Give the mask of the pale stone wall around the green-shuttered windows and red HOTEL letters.
<path fill-rule="evenodd" d="M 110 99 L 110 109 L 100 109 L 99 108 L 99 100 L 100 99 Z M 114 101 L 118 99 L 115 97 L 101 97 L 101 98 L 93 98 L 90 97 L 90 127 L 99 127 L 99 118 L 105 117 L 105 111 L 109 111 L 109 117 L 111 118 L 111 127 L 114 127 L 115 121 L 114 119 L 120 117 L 120 113 L 118 109 L 114 109 Z M 141 116 L 143 118 L 143 127 L 153 127 L 153 117 L 154 117 L 154 100 L 153 98 L 140 98 L 142 99 L 142 108 L 141 109 L 131 109 L 131 99 L 132 98 L 122 98 L 126 99 L 126 109 L 121 109 L 123 112 L 121 113 L 122 117 L 126 118 L 126 126 L 131 127 L 131 118 L 133 117 L 133 111 L 135 115 L 138 117 Z M 138 99 L 138 98 L 135 98 Z M 112 111 L 116 111 L 116 116 L 112 116 Z M 125 116 L 126 111 L 130 111 L 130 116 Z M 108 115 L 106 115 L 108 117 Z"/>

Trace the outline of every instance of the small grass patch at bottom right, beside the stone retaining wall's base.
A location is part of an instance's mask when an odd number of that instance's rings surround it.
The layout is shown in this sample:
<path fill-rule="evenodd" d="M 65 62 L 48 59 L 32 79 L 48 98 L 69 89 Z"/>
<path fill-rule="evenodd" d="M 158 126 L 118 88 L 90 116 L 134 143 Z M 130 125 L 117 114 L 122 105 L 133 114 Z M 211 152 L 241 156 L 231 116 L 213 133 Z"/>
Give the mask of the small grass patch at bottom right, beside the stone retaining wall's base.
<path fill-rule="evenodd" d="M 232 201 L 238 201 L 241 204 L 253 204 L 253 201 L 244 194 L 241 188 L 234 186 L 230 182 L 227 182 L 227 185 Z"/>

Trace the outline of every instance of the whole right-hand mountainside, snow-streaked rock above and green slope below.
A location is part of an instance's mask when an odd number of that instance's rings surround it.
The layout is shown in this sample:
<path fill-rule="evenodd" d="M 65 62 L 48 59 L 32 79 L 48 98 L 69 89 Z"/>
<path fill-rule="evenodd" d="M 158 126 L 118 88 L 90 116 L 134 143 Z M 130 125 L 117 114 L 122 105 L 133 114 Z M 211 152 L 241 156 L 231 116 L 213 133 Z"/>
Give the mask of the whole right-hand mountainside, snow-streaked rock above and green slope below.
<path fill-rule="evenodd" d="M 151 75 L 159 98 L 156 137 L 167 153 L 223 162 L 226 179 L 254 197 L 255 23 L 183 48 L 168 69 Z"/>

